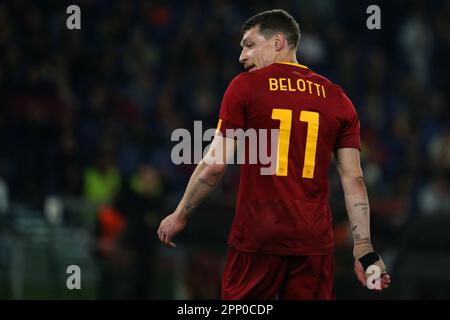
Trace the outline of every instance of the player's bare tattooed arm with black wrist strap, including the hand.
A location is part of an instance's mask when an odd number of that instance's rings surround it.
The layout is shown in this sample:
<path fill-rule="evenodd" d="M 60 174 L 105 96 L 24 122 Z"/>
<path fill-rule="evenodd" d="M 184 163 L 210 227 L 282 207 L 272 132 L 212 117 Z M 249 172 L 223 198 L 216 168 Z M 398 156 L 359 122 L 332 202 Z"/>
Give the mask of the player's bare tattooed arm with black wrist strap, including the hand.
<path fill-rule="evenodd" d="M 353 235 L 353 256 L 355 273 L 363 286 L 367 285 L 371 265 L 380 268 L 383 275 L 379 290 L 389 286 L 390 279 L 381 257 L 374 252 L 370 237 L 370 206 L 360 165 L 359 150 L 356 148 L 339 148 L 335 152 L 337 172 L 344 190 L 345 206 L 351 223 Z"/>

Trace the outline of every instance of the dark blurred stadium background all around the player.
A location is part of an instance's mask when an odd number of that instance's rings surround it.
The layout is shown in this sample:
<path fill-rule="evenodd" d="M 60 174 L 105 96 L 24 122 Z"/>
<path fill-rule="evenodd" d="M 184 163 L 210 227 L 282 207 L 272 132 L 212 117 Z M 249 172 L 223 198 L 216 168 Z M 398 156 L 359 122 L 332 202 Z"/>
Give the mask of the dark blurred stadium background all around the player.
<path fill-rule="evenodd" d="M 176 128 L 216 126 L 242 69 L 240 26 L 266 9 L 300 23 L 299 61 L 341 85 L 362 124 L 372 234 L 393 283 L 360 288 L 334 167 L 340 299 L 450 298 L 449 1 L 0 3 L 0 298 L 219 297 L 239 168 L 176 250 L 155 234 L 186 186 Z M 366 8 L 381 8 L 381 30 Z M 66 268 L 81 268 L 81 290 Z"/>

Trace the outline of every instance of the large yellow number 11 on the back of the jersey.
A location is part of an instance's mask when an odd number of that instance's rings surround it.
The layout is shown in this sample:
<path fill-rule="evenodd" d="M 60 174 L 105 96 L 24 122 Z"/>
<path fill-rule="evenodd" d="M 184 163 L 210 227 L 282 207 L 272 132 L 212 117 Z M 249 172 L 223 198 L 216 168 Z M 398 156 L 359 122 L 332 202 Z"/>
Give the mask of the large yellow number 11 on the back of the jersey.
<path fill-rule="evenodd" d="M 280 120 L 276 175 L 287 176 L 289 142 L 292 127 L 292 110 L 273 109 L 272 119 Z M 319 113 L 314 111 L 303 110 L 300 112 L 299 120 L 302 122 L 306 122 L 308 124 L 302 177 L 312 179 L 314 177 L 317 139 L 319 137 Z"/>

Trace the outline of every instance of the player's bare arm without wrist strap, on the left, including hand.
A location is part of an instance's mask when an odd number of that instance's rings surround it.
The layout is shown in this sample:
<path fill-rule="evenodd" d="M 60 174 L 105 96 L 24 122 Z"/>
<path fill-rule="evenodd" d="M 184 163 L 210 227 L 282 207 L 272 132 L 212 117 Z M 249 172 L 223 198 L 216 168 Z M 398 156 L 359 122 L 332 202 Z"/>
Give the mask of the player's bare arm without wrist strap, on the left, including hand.
<path fill-rule="evenodd" d="M 209 196 L 225 174 L 227 159 L 234 156 L 236 142 L 218 134 L 205 157 L 195 168 L 176 210 L 158 228 L 162 243 L 174 248 L 172 239 L 181 232 L 194 210 Z"/>

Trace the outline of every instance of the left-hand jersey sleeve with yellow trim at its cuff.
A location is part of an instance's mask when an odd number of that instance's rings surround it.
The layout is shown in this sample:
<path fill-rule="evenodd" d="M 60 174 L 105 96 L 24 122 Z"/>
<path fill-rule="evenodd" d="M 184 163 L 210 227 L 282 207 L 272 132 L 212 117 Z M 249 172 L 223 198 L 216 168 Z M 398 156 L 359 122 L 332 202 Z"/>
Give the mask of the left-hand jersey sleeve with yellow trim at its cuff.
<path fill-rule="evenodd" d="M 235 77 L 222 99 L 217 129 L 226 136 L 227 129 L 245 129 L 249 84 L 244 74 Z"/>

